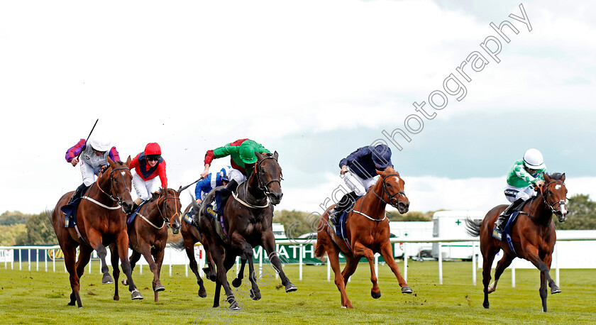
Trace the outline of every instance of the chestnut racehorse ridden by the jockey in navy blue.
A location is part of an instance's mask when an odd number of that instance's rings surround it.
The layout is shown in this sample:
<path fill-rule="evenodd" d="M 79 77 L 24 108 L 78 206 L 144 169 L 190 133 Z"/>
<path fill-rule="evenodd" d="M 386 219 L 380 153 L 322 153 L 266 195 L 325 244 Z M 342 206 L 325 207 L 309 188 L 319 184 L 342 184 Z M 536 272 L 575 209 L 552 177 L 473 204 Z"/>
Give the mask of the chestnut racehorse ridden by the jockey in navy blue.
<path fill-rule="evenodd" d="M 328 223 L 329 209 L 325 211 L 319 221 L 319 233 L 316 237 L 316 248 L 314 254 L 323 258 L 325 252 L 329 257 L 329 263 L 335 273 L 335 283 L 341 293 L 341 307 L 353 308 L 352 302 L 346 294 L 348 279 L 358 267 L 360 258 L 366 258 L 370 265 L 370 281 L 373 282 L 373 289 L 370 294 L 373 298 L 381 297 L 375 275 L 375 253 L 380 253 L 394 275 L 397 277 L 402 293 L 412 293 L 406 280 L 399 272 L 397 263 L 393 259 L 391 242 L 389 241 L 389 220 L 385 216 L 385 206 L 390 204 L 397 208 L 400 214 L 408 211 L 409 201 L 404 193 L 404 180 L 399 177 L 399 172 L 387 167 L 383 172 L 378 172 L 380 179 L 368 189 L 367 194 L 355 202 L 354 209 L 348 214 L 346 221 L 346 237 L 350 246 L 339 238 L 333 226 Z M 338 254 L 346 256 L 346 267 L 340 272 Z"/>

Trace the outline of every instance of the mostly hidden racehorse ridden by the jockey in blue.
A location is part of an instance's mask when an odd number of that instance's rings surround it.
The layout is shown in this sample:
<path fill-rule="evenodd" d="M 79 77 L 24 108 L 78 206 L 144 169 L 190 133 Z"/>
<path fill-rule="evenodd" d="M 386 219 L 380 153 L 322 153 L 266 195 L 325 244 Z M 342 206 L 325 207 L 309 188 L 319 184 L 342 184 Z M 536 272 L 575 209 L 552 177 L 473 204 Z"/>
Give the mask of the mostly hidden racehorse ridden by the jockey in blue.
<path fill-rule="evenodd" d="M 192 203 L 189 204 L 186 209 L 184 209 L 184 214 L 182 215 L 185 216 L 188 214 L 191 208 Z M 203 279 L 201 278 L 201 275 L 199 275 L 199 268 L 197 268 L 197 259 L 194 258 L 194 244 L 203 243 L 203 235 L 201 231 L 199 231 L 199 228 L 187 222 L 182 222 L 180 233 L 182 233 L 182 238 L 180 241 L 177 243 L 171 243 L 170 245 L 178 250 L 186 250 L 190 269 L 197 277 L 197 284 L 199 285 L 199 297 L 207 297 L 207 292 L 205 290 L 205 286 L 203 285 Z M 209 261 L 209 266 L 204 268 L 205 276 L 209 278 L 209 280 L 215 281 L 215 267 L 213 259 L 211 258 L 209 250 L 206 250 L 205 253 L 206 260 Z"/>

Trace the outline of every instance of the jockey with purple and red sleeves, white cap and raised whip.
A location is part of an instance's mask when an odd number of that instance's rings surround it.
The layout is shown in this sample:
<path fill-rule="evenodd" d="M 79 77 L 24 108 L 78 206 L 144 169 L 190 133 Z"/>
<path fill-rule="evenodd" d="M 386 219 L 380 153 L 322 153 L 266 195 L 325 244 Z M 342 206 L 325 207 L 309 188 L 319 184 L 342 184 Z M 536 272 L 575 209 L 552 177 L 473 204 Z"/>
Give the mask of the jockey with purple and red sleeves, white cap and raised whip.
<path fill-rule="evenodd" d="M 92 137 L 85 142 L 81 139 L 76 145 L 73 145 L 66 152 L 66 161 L 76 166 L 81 158 L 81 174 L 83 176 L 83 184 L 79 185 L 72 194 L 68 204 L 81 197 L 82 192 L 87 187 L 95 182 L 95 177 L 99 175 L 101 167 L 108 165 L 108 157 L 113 161 L 120 160 L 120 155 L 116 147 L 111 146 L 110 141 L 105 138 Z"/>

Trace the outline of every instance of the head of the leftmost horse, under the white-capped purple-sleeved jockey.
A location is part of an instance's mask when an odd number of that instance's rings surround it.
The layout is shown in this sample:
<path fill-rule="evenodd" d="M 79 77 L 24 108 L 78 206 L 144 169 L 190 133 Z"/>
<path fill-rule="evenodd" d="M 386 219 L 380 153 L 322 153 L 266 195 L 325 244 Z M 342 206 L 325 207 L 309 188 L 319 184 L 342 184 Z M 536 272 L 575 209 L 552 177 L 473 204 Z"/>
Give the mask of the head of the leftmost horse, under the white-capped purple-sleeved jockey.
<path fill-rule="evenodd" d="M 133 209 L 133 198 L 131 189 L 133 188 L 133 175 L 128 168 L 131 165 L 131 156 L 128 156 L 126 163 L 114 161 L 108 157 L 109 177 L 110 177 L 110 197 L 121 204 L 122 209 L 127 214 Z"/>

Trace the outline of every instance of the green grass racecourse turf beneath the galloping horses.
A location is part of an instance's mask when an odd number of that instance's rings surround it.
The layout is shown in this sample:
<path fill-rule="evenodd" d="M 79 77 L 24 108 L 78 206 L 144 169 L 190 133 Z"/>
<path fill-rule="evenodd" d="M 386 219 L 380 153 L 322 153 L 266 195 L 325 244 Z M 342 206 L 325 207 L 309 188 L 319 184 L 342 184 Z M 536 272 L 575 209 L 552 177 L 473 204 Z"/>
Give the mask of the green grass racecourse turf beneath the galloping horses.
<path fill-rule="evenodd" d="M 403 267 L 403 263 L 399 263 Z M 443 285 L 438 284 L 437 263 L 408 264 L 409 285 L 414 294 L 402 294 L 397 280 L 386 265 L 379 265 L 380 299 L 370 297 L 368 265 L 360 264 L 347 287 L 355 309 L 341 309 L 333 281 L 326 281 L 326 266 L 304 267 L 304 280 L 298 280 L 298 267 L 284 270 L 298 291 L 277 289 L 280 280 L 265 272 L 260 280 L 263 299 L 252 301 L 236 294 L 242 309 L 234 314 L 226 309 L 211 309 L 214 283 L 206 281 L 208 296 L 197 296 L 198 285 L 192 272 L 175 266 L 172 277 L 162 271 L 165 292 L 153 302 L 152 276 L 145 266 L 143 275 L 133 273 L 141 301 L 132 301 L 120 286 L 121 300 L 112 299 L 114 285 L 101 285 L 99 263 L 94 272 L 82 277 L 83 309 L 67 306 L 70 295 L 68 275 L 60 272 L 19 271 L 0 265 L 0 322 L 3 324 L 495 324 L 557 323 L 594 324 L 596 319 L 595 270 L 561 270 L 560 294 L 548 295 L 548 312 L 541 312 L 539 271 L 516 270 L 516 287 L 511 287 L 511 272 L 504 272 L 497 291 L 490 294 L 490 309 L 482 308 L 481 274 L 472 285 L 470 262 L 443 263 Z M 26 268 L 26 264 L 23 265 Z M 40 269 L 45 268 L 40 265 Z M 35 269 L 33 264 L 32 269 Z M 229 276 L 233 275 L 232 268 Z M 554 274 L 554 272 L 553 272 Z"/>

